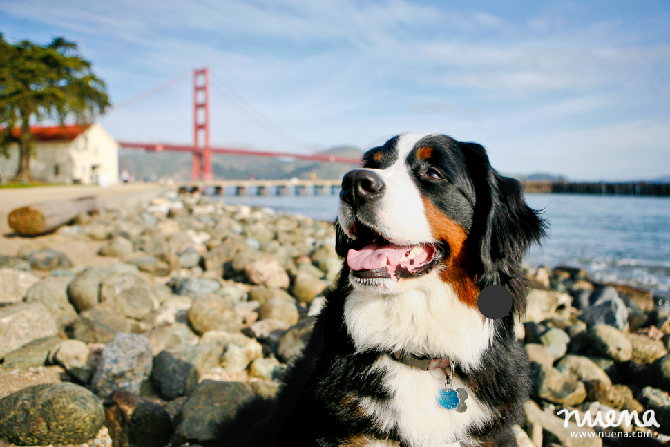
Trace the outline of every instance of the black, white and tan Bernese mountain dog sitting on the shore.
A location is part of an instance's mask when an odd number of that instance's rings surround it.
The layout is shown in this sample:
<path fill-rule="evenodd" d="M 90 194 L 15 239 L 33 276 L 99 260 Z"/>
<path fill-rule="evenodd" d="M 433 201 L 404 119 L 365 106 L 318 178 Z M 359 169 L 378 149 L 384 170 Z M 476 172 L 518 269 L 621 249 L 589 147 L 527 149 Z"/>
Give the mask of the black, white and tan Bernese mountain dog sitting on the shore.
<path fill-rule="evenodd" d="M 363 162 L 342 180 L 345 262 L 280 390 L 274 445 L 516 446 L 521 258 L 546 222 L 479 144 L 406 133 Z M 479 310 L 489 286 L 510 296 L 501 318 Z"/>

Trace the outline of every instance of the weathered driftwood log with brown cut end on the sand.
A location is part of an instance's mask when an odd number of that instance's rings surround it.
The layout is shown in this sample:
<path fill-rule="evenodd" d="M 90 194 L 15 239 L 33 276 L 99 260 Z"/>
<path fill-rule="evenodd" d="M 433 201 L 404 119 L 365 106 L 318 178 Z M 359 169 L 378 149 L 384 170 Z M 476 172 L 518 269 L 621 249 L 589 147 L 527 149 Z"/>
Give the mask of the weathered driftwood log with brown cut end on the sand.
<path fill-rule="evenodd" d="M 97 196 L 39 202 L 15 209 L 7 220 L 17 234 L 37 236 L 54 231 L 81 213 L 99 211 L 102 205 L 102 199 Z"/>

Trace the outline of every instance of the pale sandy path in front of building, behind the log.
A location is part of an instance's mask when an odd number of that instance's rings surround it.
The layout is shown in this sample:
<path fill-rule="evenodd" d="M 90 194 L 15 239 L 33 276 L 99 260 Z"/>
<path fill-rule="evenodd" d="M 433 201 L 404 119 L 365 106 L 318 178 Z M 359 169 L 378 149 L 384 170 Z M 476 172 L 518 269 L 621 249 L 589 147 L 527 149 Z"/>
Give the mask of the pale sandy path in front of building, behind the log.
<path fill-rule="evenodd" d="M 169 187 L 157 183 L 118 184 L 102 188 L 97 185 L 59 185 L 32 188 L 0 188 L 0 235 L 12 232 L 8 223 L 9 213 L 19 207 L 48 200 L 72 199 L 84 196 L 99 196 L 108 208 L 134 207 L 150 200 Z"/>

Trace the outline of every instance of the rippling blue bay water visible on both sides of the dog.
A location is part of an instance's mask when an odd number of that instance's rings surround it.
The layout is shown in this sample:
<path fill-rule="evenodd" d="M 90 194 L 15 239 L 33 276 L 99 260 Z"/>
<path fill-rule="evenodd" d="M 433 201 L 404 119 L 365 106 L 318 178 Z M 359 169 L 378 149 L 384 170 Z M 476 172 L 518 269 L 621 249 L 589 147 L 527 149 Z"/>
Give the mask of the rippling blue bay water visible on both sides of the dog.
<path fill-rule="evenodd" d="M 270 207 L 334 220 L 338 196 L 226 196 L 227 203 Z M 670 198 L 528 194 L 549 220 L 549 238 L 526 264 L 586 269 L 594 280 L 626 283 L 670 297 Z"/>

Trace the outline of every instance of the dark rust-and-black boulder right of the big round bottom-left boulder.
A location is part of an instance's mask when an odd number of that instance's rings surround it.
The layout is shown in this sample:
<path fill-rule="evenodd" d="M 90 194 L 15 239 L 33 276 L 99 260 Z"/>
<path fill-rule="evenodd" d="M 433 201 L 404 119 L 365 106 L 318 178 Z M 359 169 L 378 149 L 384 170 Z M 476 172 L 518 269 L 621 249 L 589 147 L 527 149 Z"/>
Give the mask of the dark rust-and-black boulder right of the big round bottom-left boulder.
<path fill-rule="evenodd" d="M 159 404 L 120 389 L 105 402 L 105 408 L 105 426 L 114 446 L 163 447 L 170 441 L 170 415 Z"/>

